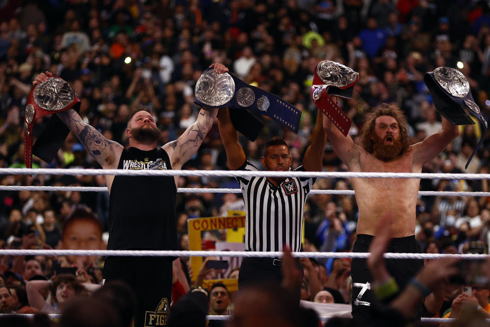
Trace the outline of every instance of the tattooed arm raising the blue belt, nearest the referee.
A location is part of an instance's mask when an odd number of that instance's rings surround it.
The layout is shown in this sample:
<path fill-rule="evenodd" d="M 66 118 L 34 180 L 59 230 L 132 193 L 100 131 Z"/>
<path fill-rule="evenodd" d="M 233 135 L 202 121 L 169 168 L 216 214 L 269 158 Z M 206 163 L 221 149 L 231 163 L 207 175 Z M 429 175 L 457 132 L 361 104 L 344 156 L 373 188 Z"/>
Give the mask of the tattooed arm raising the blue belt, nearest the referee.
<path fill-rule="evenodd" d="M 181 169 L 182 165 L 191 159 L 203 143 L 207 132 L 211 129 L 218 109 L 202 108 L 194 124 L 175 141 L 163 146 L 170 158 L 172 169 Z"/>

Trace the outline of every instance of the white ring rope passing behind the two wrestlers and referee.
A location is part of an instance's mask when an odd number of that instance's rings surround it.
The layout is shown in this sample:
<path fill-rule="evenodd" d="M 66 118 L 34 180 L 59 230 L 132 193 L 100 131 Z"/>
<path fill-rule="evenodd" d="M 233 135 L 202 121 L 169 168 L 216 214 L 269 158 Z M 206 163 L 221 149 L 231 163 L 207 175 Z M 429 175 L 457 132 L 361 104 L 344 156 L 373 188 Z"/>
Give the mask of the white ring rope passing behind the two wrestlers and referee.
<path fill-rule="evenodd" d="M 0 186 L 0 191 L 78 191 L 106 192 L 107 187 L 92 186 Z M 178 193 L 241 193 L 241 189 L 206 189 L 179 188 Z M 354 195 L 353 190 L 311 190 L 310 194 L 347 194 Z M 421 196 L 490 196 L 490 192 L 455 192 L 455 191 L 418 191 Z"/>

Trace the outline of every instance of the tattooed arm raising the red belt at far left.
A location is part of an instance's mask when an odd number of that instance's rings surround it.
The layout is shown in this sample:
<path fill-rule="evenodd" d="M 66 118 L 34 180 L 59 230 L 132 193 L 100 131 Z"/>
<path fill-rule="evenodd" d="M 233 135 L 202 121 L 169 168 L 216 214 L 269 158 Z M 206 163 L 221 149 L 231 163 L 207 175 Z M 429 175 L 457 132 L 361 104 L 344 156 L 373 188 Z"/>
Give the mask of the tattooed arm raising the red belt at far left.
<path fill-rule="evenodd" d="M 85 123 L 74 109 L 57 113 L 70 131 L 78 137 L 85 150 L 106 169 L 117 168 L 123 146 L 106 139 L 95 128 Z"/>

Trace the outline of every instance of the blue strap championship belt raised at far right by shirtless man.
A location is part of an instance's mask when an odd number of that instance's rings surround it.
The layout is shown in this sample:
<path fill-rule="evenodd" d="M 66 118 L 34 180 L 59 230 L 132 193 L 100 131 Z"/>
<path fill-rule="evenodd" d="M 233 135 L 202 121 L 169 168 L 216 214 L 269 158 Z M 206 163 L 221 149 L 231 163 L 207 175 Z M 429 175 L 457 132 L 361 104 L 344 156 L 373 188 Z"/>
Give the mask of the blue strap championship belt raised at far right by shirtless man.
<path fill-rule="evenodd" d="M 471 95 L 469 82 L 462 72 L 450 67 L 438 67 L 433 72 L 425 73 L 424 82 L 432 94 L 434 106 L 449 122 L 454 125 L 473 125 L 475 122 L 471 115 L 480 124 L 482 137 L 464 166 L 466 169 L 482 146 L 488 128 L 487 120 Z"/>

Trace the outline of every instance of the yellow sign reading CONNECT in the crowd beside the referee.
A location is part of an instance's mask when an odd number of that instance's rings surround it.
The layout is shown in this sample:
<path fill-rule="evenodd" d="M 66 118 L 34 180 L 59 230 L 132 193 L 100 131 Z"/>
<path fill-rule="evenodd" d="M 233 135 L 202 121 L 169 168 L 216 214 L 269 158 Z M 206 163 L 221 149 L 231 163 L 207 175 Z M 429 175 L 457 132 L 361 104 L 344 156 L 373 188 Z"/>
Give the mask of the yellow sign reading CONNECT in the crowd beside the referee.
<path fill-rule="evenodd" d="M 228 212 L 228 217 L 193 218 L 187 220 L 187 226 L 189 230 L 189 250 L 191 251 L 201 251 L 203 249 L 201 233 L 206 230 L 228 229 L 227 242 L 243 243 L 245 213 L 243 211 L 233 211 Z M 192 280 L 195 281 L 203 264 L 203 257 L 191 257 L 190 262 L 194 272 Z"/>

